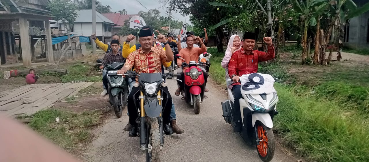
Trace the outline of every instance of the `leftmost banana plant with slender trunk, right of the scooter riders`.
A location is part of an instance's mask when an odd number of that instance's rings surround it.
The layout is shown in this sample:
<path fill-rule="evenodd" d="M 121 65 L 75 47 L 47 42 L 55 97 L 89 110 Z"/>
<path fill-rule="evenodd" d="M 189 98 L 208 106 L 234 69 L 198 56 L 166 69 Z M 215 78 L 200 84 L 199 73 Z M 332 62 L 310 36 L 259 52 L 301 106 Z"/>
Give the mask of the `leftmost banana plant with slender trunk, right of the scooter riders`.
<path fill-rule="evenodd" d="M 307 30 L 311 24 L 317 23 L 313 15 L 313 11 L 315 10 L 315 7 L 322 6 L 324 3 L 326 3 L 326 0 L 295 0 L 293 3 L 296 11 L 300 14 L 300 19 L 304 26 L 304 33 L 301 41 L 301 45 L 303 47 L 301 64 L 304 64 L 306 63 L 307 57 Z"/>

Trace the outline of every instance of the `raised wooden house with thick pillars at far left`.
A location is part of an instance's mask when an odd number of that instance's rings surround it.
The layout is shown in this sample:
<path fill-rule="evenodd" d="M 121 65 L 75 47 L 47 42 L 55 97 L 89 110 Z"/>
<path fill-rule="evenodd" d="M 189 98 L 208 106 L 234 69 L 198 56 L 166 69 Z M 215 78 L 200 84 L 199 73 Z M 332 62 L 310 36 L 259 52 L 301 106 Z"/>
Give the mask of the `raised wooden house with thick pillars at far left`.
<path fill-rule="evenodd" d="M 30 67 L 39 44 L 45 44 L 41 61 L 54 60 L 48 4 L 49 0 L 0 0 L 1 64 L 21 61 L 25 67 Z M 42 41 L 41 38 L 47 39 Z"/>

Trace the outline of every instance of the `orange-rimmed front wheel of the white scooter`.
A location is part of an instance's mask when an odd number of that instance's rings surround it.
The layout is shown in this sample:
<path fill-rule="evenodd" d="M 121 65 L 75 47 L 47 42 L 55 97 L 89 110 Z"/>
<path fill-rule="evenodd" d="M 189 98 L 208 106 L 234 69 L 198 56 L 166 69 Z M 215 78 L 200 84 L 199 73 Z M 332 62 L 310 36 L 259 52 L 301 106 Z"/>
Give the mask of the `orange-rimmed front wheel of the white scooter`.
<path fill-rule="evenodd" d="M 262 161 L 269 162 L 273 159 L 275 149 L 273 130 L 259 121 L 256 122 L 255 127 L 258 135 L 256 138 L 259 141 L 256 142 L 256 150 Z"/>

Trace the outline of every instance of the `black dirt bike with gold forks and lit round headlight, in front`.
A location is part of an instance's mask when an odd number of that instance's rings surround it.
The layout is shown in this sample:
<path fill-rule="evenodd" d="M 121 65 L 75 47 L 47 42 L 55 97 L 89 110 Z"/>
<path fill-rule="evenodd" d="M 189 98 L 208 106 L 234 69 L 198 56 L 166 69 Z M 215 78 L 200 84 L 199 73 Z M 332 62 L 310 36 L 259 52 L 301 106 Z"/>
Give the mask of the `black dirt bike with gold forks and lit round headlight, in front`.
<path fill-rule="evenodd" d="M 146 151 L 146 162 L 158 162 L 160 161 L 159 152 L 163 149 L 164 144 L 164 128 L 161 116 L 163 114 L 162 87 L 168 86 L 168 83 L 163 82 L 163 78 L 173 79 L 173 77 L 169 73 L 137 74 L 133 71 L 127 71 L 123 75 L 138 78 L 138 83 L 133 84 L 133 86 L 140 88 L 140 104 L 137 105 L 139 106 L 137 123 L 140 148 L 142 151 Z"/>

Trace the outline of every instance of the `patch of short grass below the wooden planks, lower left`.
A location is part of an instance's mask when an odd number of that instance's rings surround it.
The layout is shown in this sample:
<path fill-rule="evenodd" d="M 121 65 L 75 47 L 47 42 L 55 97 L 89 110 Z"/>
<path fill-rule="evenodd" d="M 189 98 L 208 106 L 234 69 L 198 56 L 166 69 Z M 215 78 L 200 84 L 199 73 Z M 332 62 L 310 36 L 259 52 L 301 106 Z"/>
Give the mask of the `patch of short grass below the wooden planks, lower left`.
<path fill-rule="evenodd" d="M 57 117 L 59 122 L 55 121 Z M 29 126 L 61 148 L 73 151 L 76 146 L 92 138 L 89 129 L 99 124 L 99 117 L 100 114 L 97 111 L 76 114 L 58 109 L 46 109 L 32 115 Z"/>

